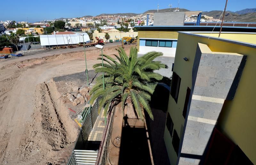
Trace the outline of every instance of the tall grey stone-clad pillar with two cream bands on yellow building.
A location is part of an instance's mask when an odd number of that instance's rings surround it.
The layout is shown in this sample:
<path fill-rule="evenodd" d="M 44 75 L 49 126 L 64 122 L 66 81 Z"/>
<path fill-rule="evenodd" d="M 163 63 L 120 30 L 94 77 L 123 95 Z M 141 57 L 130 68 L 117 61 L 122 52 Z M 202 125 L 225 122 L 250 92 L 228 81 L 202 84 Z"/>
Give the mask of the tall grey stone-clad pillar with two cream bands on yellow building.
<path fill-rule="evenodd" d="M 241 75 L 240 64 L 245 60 L 244 56 L 239 54 L 204 53 L 200 48 L 205 46 L 198 44 L 196 51 L 192 73 L 194 83 L 190 95 L 191 104 L 188 105 L 179 164 L 199 164 L 200 160 L 204 159 L 205 148 L 223 103 L 233 98 L 227 96 L 230 92 L 235 94 L 230 91 L 230 88 L 237 87 L 239 78 L 234 80 L 236 75 Z"/>

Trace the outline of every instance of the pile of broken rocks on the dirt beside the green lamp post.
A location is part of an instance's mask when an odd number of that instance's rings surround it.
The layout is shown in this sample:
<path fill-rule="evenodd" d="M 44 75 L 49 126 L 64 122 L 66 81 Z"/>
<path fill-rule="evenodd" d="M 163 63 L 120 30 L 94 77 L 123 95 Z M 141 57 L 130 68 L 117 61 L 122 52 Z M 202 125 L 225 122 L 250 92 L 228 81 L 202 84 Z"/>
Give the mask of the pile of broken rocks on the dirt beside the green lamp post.
<path fill-rule="evenodd" d="M 90 88 L 88 87 L 79 89 L 77 86 L 75 86 L 72 87 L 69 93 L 63 95 L 63 97 L 67 97 L 74 106 L 77 104 L 86 104 L 86 102 L 91 98 L 91 96 L 88 95 L 89 91 Z"/>

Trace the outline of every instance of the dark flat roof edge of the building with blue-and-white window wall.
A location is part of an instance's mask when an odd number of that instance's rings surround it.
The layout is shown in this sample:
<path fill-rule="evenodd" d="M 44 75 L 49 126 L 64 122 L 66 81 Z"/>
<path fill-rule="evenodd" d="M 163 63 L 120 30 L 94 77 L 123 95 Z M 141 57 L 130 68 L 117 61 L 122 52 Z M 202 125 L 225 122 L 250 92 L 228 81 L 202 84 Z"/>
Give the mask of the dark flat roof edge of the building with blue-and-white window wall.
<path fill-rule="evenodd" d="M 134 26 L 139 29 L 178 29 L 178 30 L 209 30 L 214 31 L 220 30 L 220 26 L 198 26 L 198 25 L 183 25 L 183 26 Z M 256 32 L 256 27 L 244 27 L 244 26 L 222 26 L 222 30 L 230 32 Z"/>

